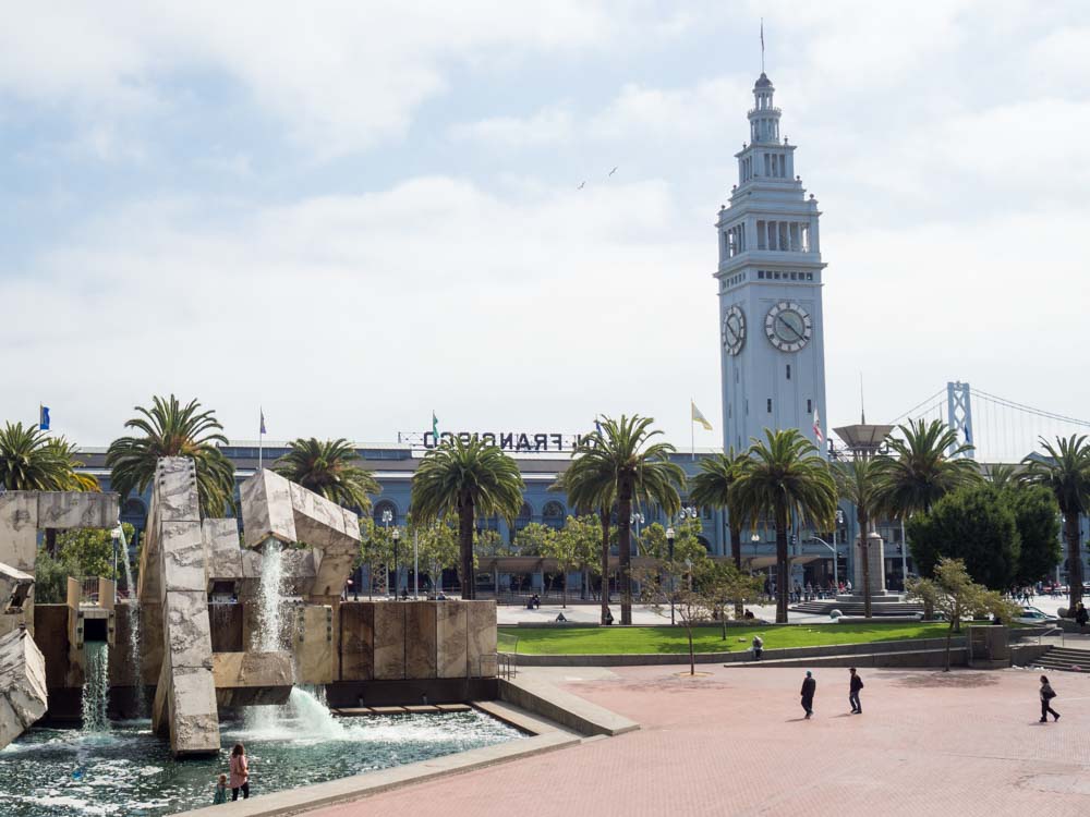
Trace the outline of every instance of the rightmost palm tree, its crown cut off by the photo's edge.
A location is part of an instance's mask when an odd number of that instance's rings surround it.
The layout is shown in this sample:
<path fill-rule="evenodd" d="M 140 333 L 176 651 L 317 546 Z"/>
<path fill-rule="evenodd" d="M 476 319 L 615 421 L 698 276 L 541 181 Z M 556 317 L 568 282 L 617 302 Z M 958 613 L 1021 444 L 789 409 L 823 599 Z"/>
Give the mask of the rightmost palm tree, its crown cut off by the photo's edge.
<path fill-rule="evenodd" d="M 1079 541 L 1079 515 L 1090 511 L 1090 444 L 1086 436 L 1056 438 L 1053 446 L 1043 437 L 1041 447 L 1046 459 L 1030 454 L 1025 460 L 1021 479 L 1030 485 L 1043 485 L 1056 498 L 1064 514 L 1064 538 L 1067 540 L 1067 586 L 1070 599 L 1068 614 L 1082 600 L 1082 545 Z"/>

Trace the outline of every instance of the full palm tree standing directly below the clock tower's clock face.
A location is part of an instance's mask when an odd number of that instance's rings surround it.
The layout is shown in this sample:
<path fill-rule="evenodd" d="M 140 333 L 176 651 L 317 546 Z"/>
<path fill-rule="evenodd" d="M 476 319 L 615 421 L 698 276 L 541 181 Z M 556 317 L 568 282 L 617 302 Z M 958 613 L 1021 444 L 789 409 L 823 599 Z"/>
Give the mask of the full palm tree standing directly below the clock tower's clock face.
<path fill-rule="evenodd" d="M 787 623 L 787 529 L 791 520 L 822 529 L 836 519 L 836 484 L 818 449 L 796 428 L 765 429 L 753 440 L 734 486 L 735 502 L 750 523 L 772 515 L 776 526 L 776 623 Z"/>

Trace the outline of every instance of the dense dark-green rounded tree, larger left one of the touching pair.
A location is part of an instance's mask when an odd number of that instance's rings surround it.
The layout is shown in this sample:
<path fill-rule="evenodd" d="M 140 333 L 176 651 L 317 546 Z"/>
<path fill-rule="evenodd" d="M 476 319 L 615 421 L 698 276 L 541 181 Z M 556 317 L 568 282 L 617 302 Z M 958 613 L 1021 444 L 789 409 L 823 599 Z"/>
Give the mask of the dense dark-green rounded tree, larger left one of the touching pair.
<path fill-rule="evenodd" d="M 1018 572 L 1021 542 L 1014 511 L 986 483 L 947 493 L 909 521 L 908 534 L 923 576 L 932 576 L 944 557 L 961 560 L 974 581 L 993 589 L 1009 587 Z"/>

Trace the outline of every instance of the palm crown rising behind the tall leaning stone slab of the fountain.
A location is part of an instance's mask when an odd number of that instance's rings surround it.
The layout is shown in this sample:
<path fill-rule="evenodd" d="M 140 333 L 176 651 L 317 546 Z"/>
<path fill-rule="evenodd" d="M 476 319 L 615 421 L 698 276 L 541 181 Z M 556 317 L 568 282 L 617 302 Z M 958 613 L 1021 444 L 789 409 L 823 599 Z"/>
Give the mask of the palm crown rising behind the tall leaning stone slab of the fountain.
<path fill-rule="evenodd" d="M 182 405 L 173 394 L 152 398 L 152 408 L 137 405 L 137 417 L 125 428 L 142 431 L 140 437 L 119 437 L 110 443 L 106 465 L 110 485 L 124 499 L 131 491 L 141 493 L 155 476 L 161 456 L 193 459 L 197 475 L 197 495 L 205 516 L 220 516 L 234 511 L 234 466 L 216 443 L 227 443 L 222 426 L 211 411 L 201 404 Z"/>

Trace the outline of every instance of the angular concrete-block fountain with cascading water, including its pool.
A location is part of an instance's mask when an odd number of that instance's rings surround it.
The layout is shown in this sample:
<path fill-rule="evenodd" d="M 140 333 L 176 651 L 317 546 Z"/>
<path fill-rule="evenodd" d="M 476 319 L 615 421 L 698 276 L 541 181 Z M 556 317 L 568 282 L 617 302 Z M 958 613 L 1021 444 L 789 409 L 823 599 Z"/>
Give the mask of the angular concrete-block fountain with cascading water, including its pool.
<path fill-rule="evenodd" d="M 65 605 L 37 609 L 32 585 L 37 529 L 114 528 L 117 495 L 0 495 L 0 703 L 11 704 L 0 748 L 46 712 L 47 687 L 48 720 L 83 723 L 39 724 L 0 752 L 0 794 L 14 814 L 204 804 L 238 740 L 262 770 L 255 789 L 272 791 L 518 736 L 475 711 L 346 717 L 346 707 L 416 704 L 422 693 L 486 695 L 476 679 L 483 667 L 494 673 L 482 658 L 496 650 L 495 605 L 342 601 L 359 517 L 269 471 L 243 483 L 241 498 L 240 545 L 238 521 L 201 517 L 192 461 L 160 460 L 138 576 L 123 562 L 128 643 L 110 649 L 112 582 L 85 596 L 70 580 Z M 155 688 L 150 731 L 108 720 L 111 687 L 135 686 L 140 702 L 145 685 Z M 208 759 L 178 763 L 187 756 Z"/>

